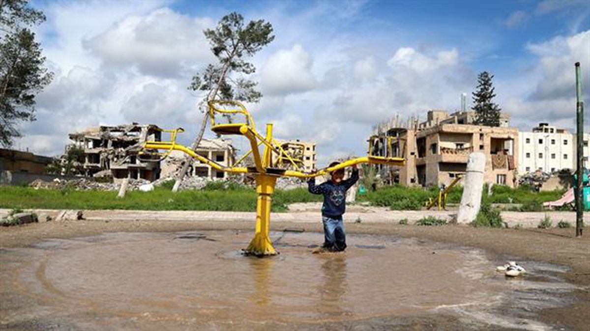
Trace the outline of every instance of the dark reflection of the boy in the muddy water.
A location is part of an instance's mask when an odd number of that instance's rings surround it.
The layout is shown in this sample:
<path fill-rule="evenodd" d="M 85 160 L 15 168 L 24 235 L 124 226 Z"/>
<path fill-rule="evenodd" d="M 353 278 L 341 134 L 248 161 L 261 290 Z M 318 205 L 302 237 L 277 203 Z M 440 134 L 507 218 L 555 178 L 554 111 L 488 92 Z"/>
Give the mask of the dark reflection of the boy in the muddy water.
<path fill-rule="evenodd" d="M 323 284 L 319 289 L 319 310 L 327 316 L 343 316 L 346 310 L 345 295 L 348 290 L 348 263 L 346 255 L 335 254 L 326 257 L 322 263 Z"/>

